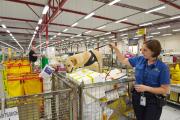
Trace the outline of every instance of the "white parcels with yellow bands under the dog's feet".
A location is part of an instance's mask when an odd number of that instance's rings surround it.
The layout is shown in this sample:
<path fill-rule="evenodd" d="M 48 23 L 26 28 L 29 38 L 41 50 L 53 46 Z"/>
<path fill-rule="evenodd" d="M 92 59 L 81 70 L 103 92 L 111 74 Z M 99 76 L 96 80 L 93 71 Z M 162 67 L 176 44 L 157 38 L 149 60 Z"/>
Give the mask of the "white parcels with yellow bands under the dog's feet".
<path fill-rule="evenodd" d="M 67 76 L 78 84 L 82 82 L 84 84 L 105 82 L 103 74 L 88 69 L 77 69 L 72 73 L 68 73 Z"/>

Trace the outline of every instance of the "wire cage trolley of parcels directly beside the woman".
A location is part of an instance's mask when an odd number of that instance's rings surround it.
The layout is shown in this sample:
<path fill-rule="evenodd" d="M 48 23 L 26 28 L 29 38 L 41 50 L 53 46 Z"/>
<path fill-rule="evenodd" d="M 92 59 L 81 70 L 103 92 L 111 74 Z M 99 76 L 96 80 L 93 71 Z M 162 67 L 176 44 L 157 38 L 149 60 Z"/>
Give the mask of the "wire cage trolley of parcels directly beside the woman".
<path fill-rule="evenodd" d="M 69 84 L 76 93 L 78 120 L 133 120 L 130 89 L 133 78 L 84 84 L 67 78 L 65 74 L 54 74 L 60 85 Z M 63 79 L 62 79 L 63 78 Z M 74 93 L 74 94 L 75 94 Z"/>

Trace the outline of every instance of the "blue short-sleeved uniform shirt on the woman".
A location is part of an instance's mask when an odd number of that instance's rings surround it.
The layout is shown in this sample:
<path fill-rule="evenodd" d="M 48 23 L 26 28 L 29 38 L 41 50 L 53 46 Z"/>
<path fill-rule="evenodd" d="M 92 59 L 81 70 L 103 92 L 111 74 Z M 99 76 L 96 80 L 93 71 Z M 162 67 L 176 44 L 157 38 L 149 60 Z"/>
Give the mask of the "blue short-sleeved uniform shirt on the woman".
<path fill-rule="evenodd" d="M 151 87 L 160 87 L 170 84 L 169 69 L 160 60 L 148 65 L 147 59 L 143 56 L 129 58 L 129 63 L 135 67 L 136 84 L 144 84 Z"/>

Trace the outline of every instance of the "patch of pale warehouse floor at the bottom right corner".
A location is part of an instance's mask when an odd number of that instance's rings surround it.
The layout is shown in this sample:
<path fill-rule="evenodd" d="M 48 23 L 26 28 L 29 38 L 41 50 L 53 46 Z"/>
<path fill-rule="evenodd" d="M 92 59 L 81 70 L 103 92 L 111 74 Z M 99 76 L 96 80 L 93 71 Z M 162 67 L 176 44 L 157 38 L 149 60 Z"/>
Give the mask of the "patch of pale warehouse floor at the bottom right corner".
<path fill-rule="evenodd" d="M 165 106 L 160 120 L 180 120 L 180 110 Z"/>

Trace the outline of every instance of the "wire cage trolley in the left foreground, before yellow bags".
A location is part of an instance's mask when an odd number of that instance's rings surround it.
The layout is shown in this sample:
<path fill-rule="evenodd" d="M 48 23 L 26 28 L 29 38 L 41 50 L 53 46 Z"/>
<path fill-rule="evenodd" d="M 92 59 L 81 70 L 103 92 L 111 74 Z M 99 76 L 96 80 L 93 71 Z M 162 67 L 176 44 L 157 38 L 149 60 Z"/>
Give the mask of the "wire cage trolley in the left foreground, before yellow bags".
<path fill-rule="evenodd" d="M 10 117 L 6 112 L 14 108 L 16 120 L 73 120 L 72 102 L 72 89 L 1 99 L 0 119 Z"/>

